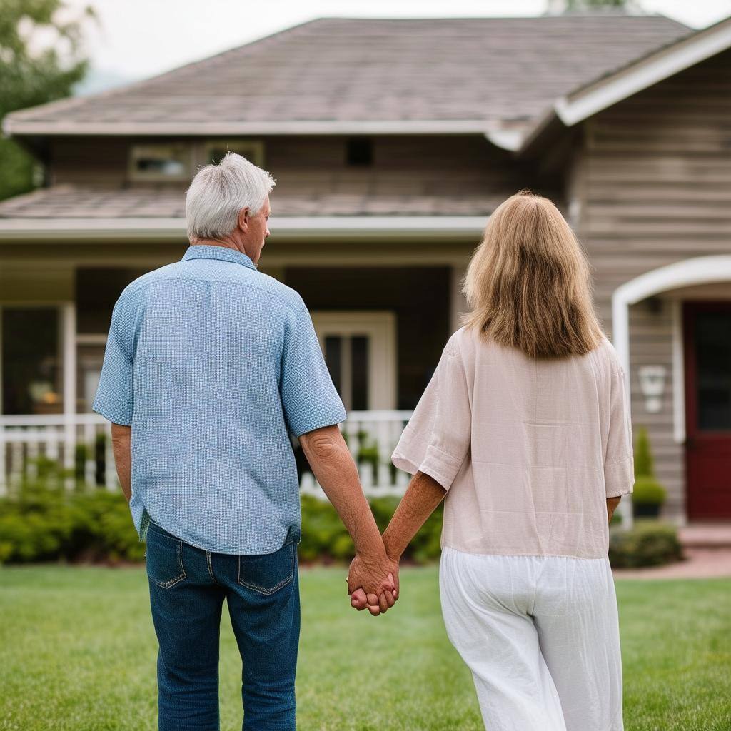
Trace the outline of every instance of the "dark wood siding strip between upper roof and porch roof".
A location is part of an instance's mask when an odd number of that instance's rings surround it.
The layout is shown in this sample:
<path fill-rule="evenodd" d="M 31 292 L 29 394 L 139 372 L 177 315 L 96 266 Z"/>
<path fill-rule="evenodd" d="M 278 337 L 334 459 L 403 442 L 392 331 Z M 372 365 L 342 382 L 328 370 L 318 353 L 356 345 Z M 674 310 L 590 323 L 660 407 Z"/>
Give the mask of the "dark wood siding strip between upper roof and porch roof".
<path fill-rule="evenodd" d="M 254 139 L 254 138 L 252 138 Z M 264 167 L 277 179 L 276 196 L 288 194 L 353 196 L 433 196 L 482 194 L 488 210 L 518 189 L 531 186 L 555 195 L 557 178 L 539 178 L 530 164 L 493 147 L 484 137 L 372 137 L 373 162 L 346 163 L 346 137 L 257 137 L 265 148 Z M 141 138 L 140 143 L 161 140 Z M 164 140 L 180 141 L 180 140 Z M 182 140 L 197 152 L 202 164 L 203 143 Z M 111 137 L 58 137 L 50 144 L 53 185 L 145 186 L 129 176 L 129 149 L 135 140 Z M 187 181 L 164 183 L 185 189 Z M 273 199 L 274 200 L 274 199 Z M 450 215 L 452 211 L 440 212 Z"/>

